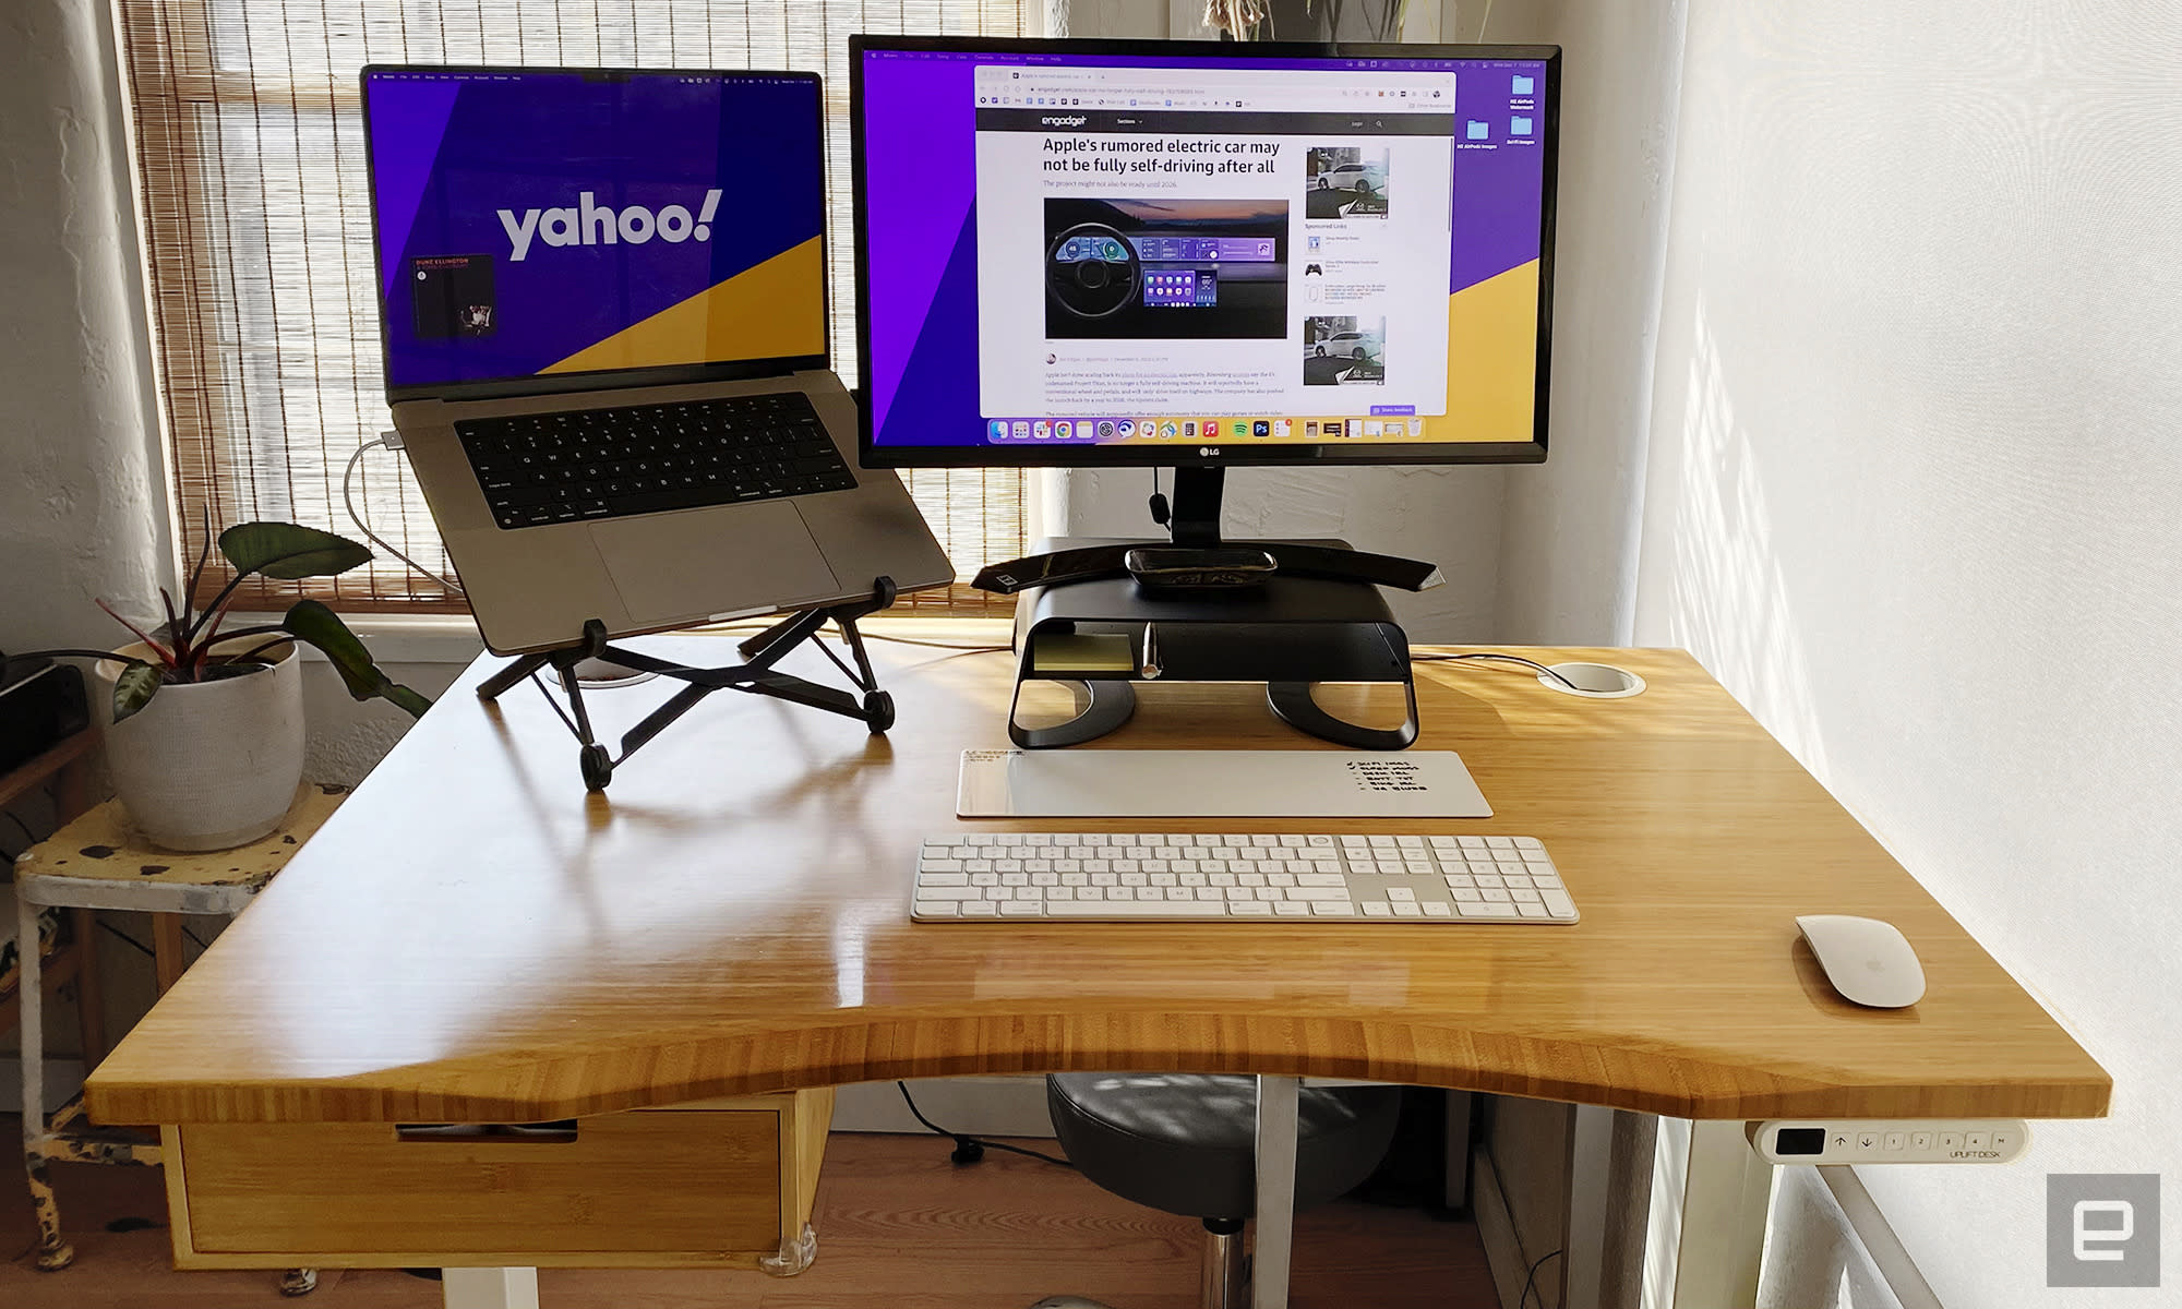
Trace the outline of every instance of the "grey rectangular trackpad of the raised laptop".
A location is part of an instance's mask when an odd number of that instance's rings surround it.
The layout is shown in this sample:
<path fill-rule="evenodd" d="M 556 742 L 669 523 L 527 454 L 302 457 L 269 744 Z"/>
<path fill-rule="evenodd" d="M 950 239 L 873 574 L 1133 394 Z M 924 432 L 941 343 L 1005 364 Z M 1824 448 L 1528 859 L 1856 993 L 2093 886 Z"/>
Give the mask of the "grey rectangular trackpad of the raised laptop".
<path fill-rule="evenodd" d="M 790 500 L 594 524 L 591 541 L 639 626 L 840 593 Z"/>

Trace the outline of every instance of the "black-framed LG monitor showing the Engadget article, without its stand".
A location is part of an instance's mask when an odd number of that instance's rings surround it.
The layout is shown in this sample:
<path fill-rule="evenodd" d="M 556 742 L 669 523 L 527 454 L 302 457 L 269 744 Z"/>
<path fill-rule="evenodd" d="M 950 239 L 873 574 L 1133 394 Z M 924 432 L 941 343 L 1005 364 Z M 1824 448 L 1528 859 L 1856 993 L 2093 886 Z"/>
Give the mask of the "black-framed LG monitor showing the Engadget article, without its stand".
<path fill-rule="evenodd" d="M 855 39 L 864 460 L 1545 458 L 1558 70 Z"/>

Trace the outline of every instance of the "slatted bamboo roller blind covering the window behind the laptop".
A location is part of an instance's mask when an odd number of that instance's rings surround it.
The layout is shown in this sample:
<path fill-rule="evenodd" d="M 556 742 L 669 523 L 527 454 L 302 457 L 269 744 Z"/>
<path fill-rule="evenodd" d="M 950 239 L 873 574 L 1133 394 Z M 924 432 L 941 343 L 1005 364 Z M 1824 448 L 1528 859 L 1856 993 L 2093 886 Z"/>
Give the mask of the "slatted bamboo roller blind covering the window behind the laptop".
<path fill-rule="evenodd" d="M 855 31 L 1019 35 L 1041 0 L 120 0 L 161 401 L 188 559 L 212 530 L 290 519 L 353 535 L 349 456 L 386 430 L 356 74 L 364 63 L 799 68 L 825 74 L 834 362 L 851 386 L 849 46 Z M 919 469 L 960 576 L 1023 552 L 1023 473 Z M 447 572 L 399 456 L 356 476 L 373 530 Z M 463 611 L 384 554 L 244 609 Z M 903 604 L 982 609 L 962 585 Z M 1002 602 L 1004 604 L 1004 602 Z"/>

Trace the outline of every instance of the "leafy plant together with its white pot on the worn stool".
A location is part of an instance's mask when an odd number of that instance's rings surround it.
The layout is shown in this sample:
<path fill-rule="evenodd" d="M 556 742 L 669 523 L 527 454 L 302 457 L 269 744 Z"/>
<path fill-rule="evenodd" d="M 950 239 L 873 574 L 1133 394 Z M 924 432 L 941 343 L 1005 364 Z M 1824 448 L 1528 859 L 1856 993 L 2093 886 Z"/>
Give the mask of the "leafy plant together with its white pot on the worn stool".
<path fill-rule="evenodd" d="M 316 600 L 297 600 L 277 624 L 223 631 L 244 578 L 329 578 L 369 561 L 369 550 L 347 537 L 271 521 L 227 528 L 218 545 L 236 576 L 209 604 L 196 604 L 212 563 L 207 541 L 181 604 L 159 589 L 164 624 L 129 622 L 98 600 L 135 633 L 135 644 L 39 652 L 98 661 L 94 674 L 111 687 L 103 700 L 111 705 L 107 761 L 113 790 L 137 831 L 177 851 L 247 844 L 288 814 L 303 779 L 297 641 L 323 650 L 358 700 L 384 696 L 412 716 L 430 707 L 430 700 L 380 672 L 356 633 Z"/>

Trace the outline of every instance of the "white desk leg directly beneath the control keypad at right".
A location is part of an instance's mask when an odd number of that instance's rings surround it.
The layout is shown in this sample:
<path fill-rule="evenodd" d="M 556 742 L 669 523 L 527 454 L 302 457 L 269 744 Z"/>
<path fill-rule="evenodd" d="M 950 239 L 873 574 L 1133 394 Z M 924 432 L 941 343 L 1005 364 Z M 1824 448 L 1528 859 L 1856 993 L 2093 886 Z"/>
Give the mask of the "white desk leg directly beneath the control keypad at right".
<path fill-rule="evenodd" d="M 1691 1124 L 1674 1309 L 1757 1305 L 1765 1220 L 1772 1215 L 1772 1172 L 1743 1137 L 1743 1124 Z"/>

